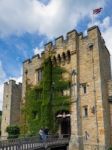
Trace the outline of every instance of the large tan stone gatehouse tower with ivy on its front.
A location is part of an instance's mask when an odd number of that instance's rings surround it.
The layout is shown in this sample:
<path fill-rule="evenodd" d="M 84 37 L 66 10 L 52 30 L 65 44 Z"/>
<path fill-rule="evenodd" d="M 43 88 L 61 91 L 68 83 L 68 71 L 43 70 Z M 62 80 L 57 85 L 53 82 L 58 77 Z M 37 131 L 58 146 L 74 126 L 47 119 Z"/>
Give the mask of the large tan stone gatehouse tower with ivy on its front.
<path fill-rule="evenodd" d="M 73 30 L 67 33 L 66 40 L 58 37 L 55 45 L 52 42 L 45 45 L 41 56 L 35 55 L 23 63 L 21 109 L 23 105 L 28 107 L 27 97 L 36 99 L 41 107 L 35 108 L 38 113 L 32 112 L 34 124 L 40 118 L 41 125 L 47 126 L 46 109 L 55 111 L 49 117 L 57 123 L 55 129 L 59 134 L 71 135 L 69 150 L 89 150 L 91 145 L 103 150 L 111 143 L 107 87 L 110 79 L 110 54 L 99 28 L 89 28 L 85 37 Z M 35 101 L 32 103 L 37 105 Z M 29 128 L 27 117 L 23 117 L 25 128 Z"/>

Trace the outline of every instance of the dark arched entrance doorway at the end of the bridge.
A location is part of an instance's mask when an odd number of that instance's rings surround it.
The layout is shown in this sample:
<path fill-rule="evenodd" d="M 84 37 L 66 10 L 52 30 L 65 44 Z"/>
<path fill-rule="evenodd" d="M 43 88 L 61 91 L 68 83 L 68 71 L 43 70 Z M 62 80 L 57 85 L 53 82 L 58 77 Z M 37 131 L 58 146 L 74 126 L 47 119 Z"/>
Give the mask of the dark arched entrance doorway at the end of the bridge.
<path fill-rule="evenodd" d="M 60 134 L 64 137 L 70 136 L 71 125 L 70 125 L 70 113 L 68 111 L 63 111 L 57 113 L 57 119 L 60 127 Z"/>

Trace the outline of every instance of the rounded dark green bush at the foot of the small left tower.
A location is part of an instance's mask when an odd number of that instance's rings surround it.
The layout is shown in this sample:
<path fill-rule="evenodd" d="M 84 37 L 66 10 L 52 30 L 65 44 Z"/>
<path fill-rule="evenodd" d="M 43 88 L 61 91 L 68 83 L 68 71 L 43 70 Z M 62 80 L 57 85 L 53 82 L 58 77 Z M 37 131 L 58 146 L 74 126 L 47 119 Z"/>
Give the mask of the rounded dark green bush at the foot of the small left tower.
<path fill-rule="evenodd" d="M 6 132 L 8 133 L 8 138 L 18 138 L 20 134 L 20 128 L 17 125 L 8 126 L 6 128 Z"/>

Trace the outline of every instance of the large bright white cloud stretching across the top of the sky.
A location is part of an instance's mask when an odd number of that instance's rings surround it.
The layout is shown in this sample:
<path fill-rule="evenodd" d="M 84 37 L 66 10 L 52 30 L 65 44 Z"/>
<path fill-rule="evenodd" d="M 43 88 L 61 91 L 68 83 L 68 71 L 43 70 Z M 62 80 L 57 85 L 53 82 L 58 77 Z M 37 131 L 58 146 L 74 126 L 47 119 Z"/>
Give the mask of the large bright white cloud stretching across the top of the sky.
<path fill-rule="evenodd" d="M 73 29 L 93 8 L 103 7 L 105 0 L 1 0 L 0 35 L 39 32 L 48 37 Z"/>

